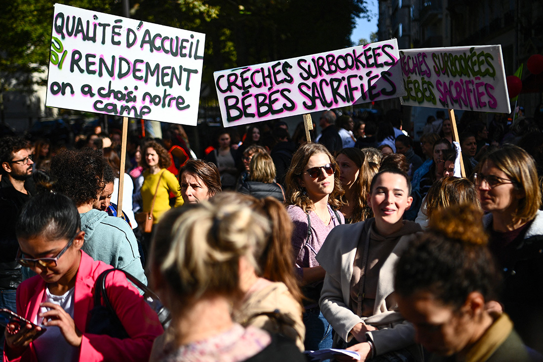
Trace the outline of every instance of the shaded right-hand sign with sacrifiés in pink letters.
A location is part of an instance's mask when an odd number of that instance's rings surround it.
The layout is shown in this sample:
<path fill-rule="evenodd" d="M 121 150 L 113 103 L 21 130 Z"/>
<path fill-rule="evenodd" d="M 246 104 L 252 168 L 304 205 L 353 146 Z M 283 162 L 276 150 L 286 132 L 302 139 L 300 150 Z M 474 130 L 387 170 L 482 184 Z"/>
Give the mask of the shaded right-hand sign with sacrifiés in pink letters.
<path fill-rule="evenodd" d="M 500 45 L 400 50 L 401 103 L 509 113 Z"/>

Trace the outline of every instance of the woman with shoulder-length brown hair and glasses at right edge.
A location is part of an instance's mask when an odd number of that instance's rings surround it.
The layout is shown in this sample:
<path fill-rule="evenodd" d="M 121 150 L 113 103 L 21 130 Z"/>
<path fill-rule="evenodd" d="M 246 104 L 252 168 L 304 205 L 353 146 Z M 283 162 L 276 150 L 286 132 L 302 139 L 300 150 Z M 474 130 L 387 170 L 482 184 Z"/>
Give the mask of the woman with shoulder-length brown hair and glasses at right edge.
<path fill-rule="evenodd" d="M 489 246 L 504 277 L 502 303 L 525 343 L 543 352 L 543 212 L 535 162 L 507 145 L 474 175 Z"/>

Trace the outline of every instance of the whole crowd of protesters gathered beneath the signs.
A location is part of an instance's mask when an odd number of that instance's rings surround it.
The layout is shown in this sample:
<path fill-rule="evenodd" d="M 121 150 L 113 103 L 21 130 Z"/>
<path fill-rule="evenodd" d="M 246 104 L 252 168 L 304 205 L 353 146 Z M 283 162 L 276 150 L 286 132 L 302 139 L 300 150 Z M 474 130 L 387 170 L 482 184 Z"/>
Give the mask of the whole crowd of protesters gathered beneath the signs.
<path fill-rule="evenodd" d="M 443 112 L 419 141 L 360 116 L 220 129 L 200 158 L 172 125 L 125 170 L 119 134 L 0 138 L 4 360 L 543 360 L 542 115 L 464 112 L 458 142 Z"/>

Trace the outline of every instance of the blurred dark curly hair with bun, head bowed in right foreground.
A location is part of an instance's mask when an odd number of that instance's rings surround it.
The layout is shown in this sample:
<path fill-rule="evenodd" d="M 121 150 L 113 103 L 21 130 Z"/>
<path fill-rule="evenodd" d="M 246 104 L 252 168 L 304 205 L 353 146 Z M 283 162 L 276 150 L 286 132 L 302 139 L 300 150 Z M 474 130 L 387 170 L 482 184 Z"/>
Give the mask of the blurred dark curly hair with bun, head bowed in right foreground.
<path fill-rule="evenodd" d="M 428 291 L 458 310 L 473 291 L 497 300 L 501 275 L 487 247 L 482 211 L 452 205 L 435 215 L 430 231 L 415 239 L 396 264 L 395 291 L 409 297 Z"/>

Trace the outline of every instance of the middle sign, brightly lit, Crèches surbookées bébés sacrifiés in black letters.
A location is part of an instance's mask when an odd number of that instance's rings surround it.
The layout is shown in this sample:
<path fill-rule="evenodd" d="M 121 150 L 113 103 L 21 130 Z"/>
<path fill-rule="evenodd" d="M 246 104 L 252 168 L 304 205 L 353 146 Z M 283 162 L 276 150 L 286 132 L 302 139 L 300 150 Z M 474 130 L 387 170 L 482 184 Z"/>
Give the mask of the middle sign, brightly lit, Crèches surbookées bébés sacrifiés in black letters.
<path fill-rule="evenodd" d="M 396 39 L 214 73 L 225 126 L 402 96 Z"/>

